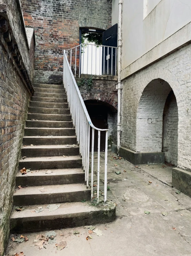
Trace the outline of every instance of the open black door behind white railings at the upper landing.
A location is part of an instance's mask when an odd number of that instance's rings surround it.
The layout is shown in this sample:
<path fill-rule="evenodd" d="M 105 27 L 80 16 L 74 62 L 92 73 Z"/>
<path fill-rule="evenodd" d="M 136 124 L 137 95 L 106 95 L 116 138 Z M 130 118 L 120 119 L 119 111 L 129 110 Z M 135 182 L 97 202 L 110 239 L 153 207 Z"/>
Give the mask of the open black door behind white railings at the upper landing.
<path fill-rule="evenodd" d="M 103 32 L 102 45 L 117 47 L 118 40 L 118 24 L 113 25 Z M 115 60 L 116 57 L 116 60 Z M 115 76 L 115 68 L 117 63 L 117 54 L 115 48 L 103 47 L 102 49 L 102 74 Z"/>

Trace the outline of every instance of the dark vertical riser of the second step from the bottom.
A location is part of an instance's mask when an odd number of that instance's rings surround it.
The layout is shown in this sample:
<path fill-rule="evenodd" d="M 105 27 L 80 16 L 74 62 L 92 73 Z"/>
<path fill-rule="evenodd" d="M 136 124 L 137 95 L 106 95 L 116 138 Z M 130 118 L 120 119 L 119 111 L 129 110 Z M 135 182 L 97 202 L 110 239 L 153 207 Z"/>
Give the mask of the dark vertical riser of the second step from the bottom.
<path fill-rule="evenodd" d="M 24 191 L 23 191 L 24 192 Z M 91 197 L 90 190 L 53 193 L 47 195 L 42 193 L 38 195 L 13 195 L 14 205 L 36 205 L 36 204 L 55 204 L 67 202 L 80 202 L 82 200 L 89 200 Z"/>

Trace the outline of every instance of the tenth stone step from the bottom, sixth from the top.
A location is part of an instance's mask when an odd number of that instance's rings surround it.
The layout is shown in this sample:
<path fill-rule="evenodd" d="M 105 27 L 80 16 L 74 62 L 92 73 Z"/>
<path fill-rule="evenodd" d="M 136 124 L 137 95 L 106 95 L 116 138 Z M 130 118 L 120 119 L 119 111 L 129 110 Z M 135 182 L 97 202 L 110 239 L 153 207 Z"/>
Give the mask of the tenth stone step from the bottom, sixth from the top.
<path fill-rule="evenodd" d="M 43 108 L 43 107 L 28 107 L 29 114 L 56 114 L 56 115 L 70 115 L 68 108 Z"/>

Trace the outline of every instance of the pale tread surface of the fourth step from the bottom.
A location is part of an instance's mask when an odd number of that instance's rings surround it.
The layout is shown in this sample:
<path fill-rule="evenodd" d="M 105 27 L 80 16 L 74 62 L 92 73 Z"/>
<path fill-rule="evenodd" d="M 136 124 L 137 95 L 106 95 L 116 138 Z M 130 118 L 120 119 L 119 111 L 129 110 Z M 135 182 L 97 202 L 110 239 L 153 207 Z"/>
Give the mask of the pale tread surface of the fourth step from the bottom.
<path fill-rule="evenodd" d="M 19 162 L 25 163 L 25 162 L 42 162 L 42 161 L 47 161 L 47 162 L 52 162 L 52 161 L 67 161 L 67 160 L 78 160 L 81 159 L 79 156 L 68 156 L 68 157 L 28 157 L 27 159 L 20 160 Z"/>

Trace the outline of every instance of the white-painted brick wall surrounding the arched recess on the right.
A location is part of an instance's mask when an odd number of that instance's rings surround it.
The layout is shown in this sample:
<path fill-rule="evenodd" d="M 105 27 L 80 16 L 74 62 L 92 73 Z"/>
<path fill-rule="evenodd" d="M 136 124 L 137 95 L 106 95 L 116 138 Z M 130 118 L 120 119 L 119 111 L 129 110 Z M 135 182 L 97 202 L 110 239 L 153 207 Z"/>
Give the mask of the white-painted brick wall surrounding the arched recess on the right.
<path fill-rule="evenodd" d="M 122 146 L 137 151 L 137 110 L 145 87 L 163 79 L 173 89 L 178 106 L 178 166 L 191 170 L 191 45 L 135 73 L 123 81 Z"/>

